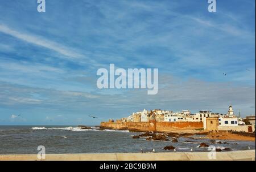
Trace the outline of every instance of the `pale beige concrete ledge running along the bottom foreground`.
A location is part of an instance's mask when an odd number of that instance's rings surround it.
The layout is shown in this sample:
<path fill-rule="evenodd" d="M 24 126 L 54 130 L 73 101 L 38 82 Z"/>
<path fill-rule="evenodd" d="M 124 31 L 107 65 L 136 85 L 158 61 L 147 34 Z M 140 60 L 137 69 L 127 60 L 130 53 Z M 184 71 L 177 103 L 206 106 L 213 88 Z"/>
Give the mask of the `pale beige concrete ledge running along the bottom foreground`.
<path fill-rule="evenodd" d="M 216 152 L 209 159 L 209 152 L 162 152 L 162 153 L 86 153 L 46 154 L 45 161 L 255 161 L 255 150 Z M 0 161 L 39 161 L 36 154 L 0 155 Z"/>

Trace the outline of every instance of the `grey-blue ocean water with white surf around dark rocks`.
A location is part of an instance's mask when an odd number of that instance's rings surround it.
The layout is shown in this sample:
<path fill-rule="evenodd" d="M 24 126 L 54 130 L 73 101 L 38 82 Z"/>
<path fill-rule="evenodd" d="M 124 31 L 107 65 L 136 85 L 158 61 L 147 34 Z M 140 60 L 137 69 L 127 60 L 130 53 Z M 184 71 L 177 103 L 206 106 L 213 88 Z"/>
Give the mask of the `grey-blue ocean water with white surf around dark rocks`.
<path fill-rule="evenodd" d="M 114 153 L 114 152 L 167 152 L 163 148 L 173 145 L 176 152 L 208 152 L 199 148 L 204 142 L 215 147 L 230 148 L 232 151 L 255 149 L 254 141 L 225 140 L 228 144 L 211 144 L 200 135 L 178 138 L 171 141 L 146 141 L 146 137 L 133 139 L 140 132 L 119 130 L 81 130 L 76 126 L 0 126 L 0 154 L 35 154 L 43 145 L 46 153 Z M 171 138 L 170 138 L 171 139 Z M 194 141 L 188 143 L 186 140 Z M 223 142 L 223 140 L 222 140 Z"/>

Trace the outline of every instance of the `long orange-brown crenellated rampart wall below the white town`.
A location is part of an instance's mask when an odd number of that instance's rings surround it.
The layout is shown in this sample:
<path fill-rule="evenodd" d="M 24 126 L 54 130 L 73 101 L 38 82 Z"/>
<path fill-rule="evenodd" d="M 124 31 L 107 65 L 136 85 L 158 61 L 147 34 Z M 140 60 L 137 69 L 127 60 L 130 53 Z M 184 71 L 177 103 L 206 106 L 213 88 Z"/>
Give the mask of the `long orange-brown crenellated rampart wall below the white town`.
<path fill-rule="evenodd" d="M 203 128 L 203 122 L 102 122 L 101 127 L 140 131 L 174 131 L 176 129 Z"/>

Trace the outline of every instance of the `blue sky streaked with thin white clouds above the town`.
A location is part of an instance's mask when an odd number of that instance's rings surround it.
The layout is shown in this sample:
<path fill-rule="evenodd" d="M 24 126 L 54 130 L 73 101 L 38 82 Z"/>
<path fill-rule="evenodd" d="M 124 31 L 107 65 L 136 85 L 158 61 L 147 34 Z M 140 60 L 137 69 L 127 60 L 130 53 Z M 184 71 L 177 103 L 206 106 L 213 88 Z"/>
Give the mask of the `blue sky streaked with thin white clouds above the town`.
<path fill-rule="evenodd" d="M 99 125 L 143 109 L 255 115 L 255 1 L 0 0 L 0 125 Z M 158 68 L 158 94 L 98 89 Z M 225 73 L 226 75 L 223 75 Z M 94 115 L 98 118 L 91 118 Z"/>

